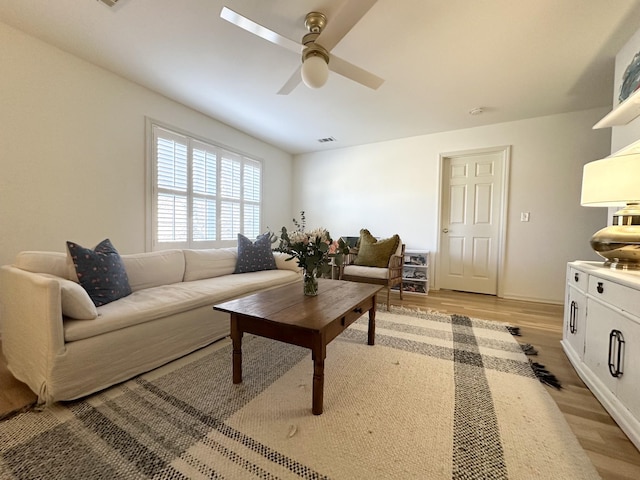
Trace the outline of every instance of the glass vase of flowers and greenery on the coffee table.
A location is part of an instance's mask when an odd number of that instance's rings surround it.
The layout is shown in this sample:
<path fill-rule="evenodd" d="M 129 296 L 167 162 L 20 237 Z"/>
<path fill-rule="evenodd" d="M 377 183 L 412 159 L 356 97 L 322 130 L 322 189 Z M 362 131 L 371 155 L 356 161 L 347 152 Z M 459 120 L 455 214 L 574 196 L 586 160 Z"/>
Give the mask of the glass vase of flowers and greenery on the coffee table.
<path fill-rule="evenodd" d="M 344 240 L 332 240 L 325 228 L 316 228 L 310 232 L 305 231 L 306 218 L 304 211 L 300 212 L 300 221 L 293 219 L 295 230 L 287 231 L 282 227 L 280 243 L 275 249 L 291 255 L 287 260 L 298 261 L 298 266 L 303 271 L 303 289 L 305 295 L 318 294 L 318 276 L 331 272 L 332 260 L 336 266 L 342 265 L 344 255 L 349 253 L 349 247 Z M 272 242 L 278 241 L 275 234 L 271 236 Z"/>

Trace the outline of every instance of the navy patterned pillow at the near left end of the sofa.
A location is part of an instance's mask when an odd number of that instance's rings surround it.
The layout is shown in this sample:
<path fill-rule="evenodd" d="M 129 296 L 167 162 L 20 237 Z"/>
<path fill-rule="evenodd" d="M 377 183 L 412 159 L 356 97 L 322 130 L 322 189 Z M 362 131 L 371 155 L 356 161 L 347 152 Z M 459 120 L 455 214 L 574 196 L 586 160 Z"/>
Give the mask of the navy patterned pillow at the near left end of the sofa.
<path fill-rule="evenodd" d="M 73 242 L 67 242 L 67 248 L 78 282 L 96 307 L 131 293 L 124 263 L 108 238 L 93 250 Z"/>

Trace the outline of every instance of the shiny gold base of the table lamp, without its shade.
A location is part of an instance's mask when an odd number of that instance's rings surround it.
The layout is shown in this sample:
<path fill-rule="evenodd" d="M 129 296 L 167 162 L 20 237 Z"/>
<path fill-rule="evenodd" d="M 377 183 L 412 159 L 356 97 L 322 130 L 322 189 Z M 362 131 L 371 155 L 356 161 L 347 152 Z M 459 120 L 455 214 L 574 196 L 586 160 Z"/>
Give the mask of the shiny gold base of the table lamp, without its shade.
<path fill-rule="evenodd" d="M 632 203 L 619 210 L 613 223 L 591 237 L 591 248 L 606 259 L 607 267 L 640 270 L 640 206 Z"/>

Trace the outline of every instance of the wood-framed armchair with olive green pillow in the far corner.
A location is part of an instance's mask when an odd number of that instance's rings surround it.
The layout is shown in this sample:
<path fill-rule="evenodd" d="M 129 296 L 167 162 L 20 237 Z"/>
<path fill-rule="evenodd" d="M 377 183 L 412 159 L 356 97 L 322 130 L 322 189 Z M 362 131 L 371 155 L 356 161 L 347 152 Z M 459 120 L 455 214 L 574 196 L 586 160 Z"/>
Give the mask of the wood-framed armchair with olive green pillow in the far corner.
<path fill-rule="evenodd" d="M 363 233 L 364 232 L 364 233 Z M 390 255 L 381 252 L 384 242 L 396 241 L 395 250 L 390 250 Z M 371 240 L 373 239 L 373 240 Z M 378 248 L 380 247 L 380 248 Z M 402 300 L 402 270 L 404 266 L 404 249 L 405 246 L 396 235 L 390 239 L 377 242 L 375 237 L 371 236 L 368 230 L 361 230 L 361 237 L 358 248 L 352 248 L 348 255 L 345 255 L 344 264 L 340 269 L 340 279 L 350 282 L 373 283 L 376 285 L 384 285 L 387 287 L 387 311 L 389 310 L 391 288 L 400 286 L 400 299 Z M 371 252 L 374 250 L 372 259 Z M 387 251 L 389 249 L 387 248 Z M 383 253 L 382 255 L 379 255 Z M 377 256 L 377 258 L 376 258 Z M 382 258 L 388 258 L 388 261 L 382 262 Z"/>

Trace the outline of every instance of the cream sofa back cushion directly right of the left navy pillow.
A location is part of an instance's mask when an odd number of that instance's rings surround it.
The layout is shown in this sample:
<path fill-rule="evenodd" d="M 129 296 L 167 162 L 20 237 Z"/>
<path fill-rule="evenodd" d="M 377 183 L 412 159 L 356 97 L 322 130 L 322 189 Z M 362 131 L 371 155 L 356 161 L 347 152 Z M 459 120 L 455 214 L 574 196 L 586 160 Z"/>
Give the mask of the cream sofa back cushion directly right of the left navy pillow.
<path fill-rule="evenodd" d="M 158 250 L 156 252 L 121 255 L 127 270 L 131 291 L 181 282 L 185 272 L 182 250 Z"/>

